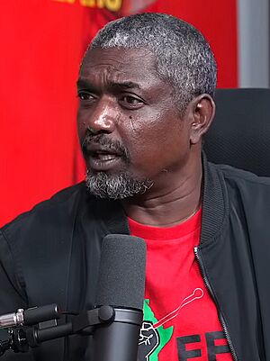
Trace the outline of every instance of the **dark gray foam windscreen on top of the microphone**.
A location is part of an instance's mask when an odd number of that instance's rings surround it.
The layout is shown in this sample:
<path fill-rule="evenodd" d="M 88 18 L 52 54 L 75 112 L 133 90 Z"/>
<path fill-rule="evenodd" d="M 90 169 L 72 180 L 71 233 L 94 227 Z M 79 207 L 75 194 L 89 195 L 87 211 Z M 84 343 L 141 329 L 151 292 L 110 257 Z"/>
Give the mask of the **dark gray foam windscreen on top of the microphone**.
<path fill-rule="evenodd" d="M 144 239 L 123 234 L 105 236 L 95 304 L 142 310 L 145 273 Z"/>

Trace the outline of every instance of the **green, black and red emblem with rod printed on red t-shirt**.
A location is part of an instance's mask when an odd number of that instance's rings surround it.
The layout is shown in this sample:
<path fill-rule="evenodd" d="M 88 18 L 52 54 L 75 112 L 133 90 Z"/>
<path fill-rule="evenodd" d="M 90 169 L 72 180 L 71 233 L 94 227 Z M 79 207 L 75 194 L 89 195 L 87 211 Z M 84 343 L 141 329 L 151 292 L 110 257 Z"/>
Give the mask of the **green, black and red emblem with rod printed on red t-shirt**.
<path fill-rule="evenodd" d="M 139 332 L 139 361 L 158 361 L 158 354 L 172 338 L 174 327 L 164 328 L 163 325 L 174 319 L 179 311 L 187 304 L 202 298 L 202 288 L 195 288 L 193 293 L 185 297 L 181 304 L 166 314 L 162 319 L 157 320 L 151 310 L 149 300 L 144 301 L 144 321 Z"/>

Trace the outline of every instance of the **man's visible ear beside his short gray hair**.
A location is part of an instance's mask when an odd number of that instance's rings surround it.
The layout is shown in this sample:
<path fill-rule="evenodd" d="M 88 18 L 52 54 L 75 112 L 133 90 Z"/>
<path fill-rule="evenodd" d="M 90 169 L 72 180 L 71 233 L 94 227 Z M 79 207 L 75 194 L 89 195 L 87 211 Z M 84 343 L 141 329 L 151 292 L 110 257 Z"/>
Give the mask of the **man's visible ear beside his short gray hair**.
<path fill-rule="evenodd" d="M 202 139 L 215 115 L 216 105 L 208 94 L 195 97 L 189 104 L 190 108 L 190 143 L 196 144 Z"/>

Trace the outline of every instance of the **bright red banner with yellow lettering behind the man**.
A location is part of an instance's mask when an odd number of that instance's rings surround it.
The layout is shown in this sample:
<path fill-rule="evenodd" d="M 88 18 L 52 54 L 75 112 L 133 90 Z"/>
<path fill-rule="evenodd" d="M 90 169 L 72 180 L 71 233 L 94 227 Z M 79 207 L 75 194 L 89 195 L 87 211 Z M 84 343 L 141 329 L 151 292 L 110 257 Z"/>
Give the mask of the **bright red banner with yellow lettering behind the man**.
<path fill-rule="evenodd" d="M 210 41 L 219 86 L 237 86 L 236 0 L 4 0 L 0 5 L 0 225 L 84 176 L 76 77 L 103 24 L 154 11 L 193 23 Z"/>

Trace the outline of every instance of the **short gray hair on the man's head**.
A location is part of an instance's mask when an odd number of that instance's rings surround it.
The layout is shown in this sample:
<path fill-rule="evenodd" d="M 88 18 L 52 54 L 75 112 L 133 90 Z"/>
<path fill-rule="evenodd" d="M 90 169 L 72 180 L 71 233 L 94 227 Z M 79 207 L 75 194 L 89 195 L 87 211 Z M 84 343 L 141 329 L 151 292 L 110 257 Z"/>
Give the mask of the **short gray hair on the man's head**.
<path fill-rule="evenodd" d="M 183 112 L 201 94 L 214 95 L 216 61 L 209 43 L 190 23 L 167 14 L 136 14 L 108 23 L 89 49 L 147 49 L 156 57 L 157 74 L 174 87 Z"/>

